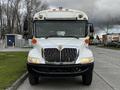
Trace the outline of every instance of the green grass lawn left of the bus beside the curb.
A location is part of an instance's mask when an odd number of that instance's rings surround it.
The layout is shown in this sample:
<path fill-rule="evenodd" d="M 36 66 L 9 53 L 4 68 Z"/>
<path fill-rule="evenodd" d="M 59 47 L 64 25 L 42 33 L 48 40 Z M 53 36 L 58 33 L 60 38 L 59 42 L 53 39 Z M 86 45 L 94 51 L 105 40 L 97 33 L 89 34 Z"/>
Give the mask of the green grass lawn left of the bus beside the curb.
<path fill-rule="evenodd" d="M 0 90 L 12 85 L 26 71 L 27 52 L 0 52 Z"/>

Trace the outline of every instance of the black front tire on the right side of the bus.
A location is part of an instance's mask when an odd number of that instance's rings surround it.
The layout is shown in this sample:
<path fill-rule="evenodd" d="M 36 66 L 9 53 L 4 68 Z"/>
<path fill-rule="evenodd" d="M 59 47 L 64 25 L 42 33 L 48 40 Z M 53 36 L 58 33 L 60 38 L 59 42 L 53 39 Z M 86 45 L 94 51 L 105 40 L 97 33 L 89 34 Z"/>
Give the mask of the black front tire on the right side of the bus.
<path fill-rule="evenodd" d="M 91 85 L 92 83 L 93 71 L 89 71 L 86 74 L 82 75 L 82 80 L 84 85 Z"/>

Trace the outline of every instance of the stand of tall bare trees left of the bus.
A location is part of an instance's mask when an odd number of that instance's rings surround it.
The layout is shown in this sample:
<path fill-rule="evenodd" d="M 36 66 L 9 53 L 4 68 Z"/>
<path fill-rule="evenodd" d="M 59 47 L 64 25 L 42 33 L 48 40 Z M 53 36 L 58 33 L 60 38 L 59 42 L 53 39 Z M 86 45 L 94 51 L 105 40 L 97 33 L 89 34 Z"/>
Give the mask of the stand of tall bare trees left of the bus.
<path fill-rule="evenodd" d="M 42 4 L 39 0 L 0 0 L 0 29 L 3 29 L 2 32 L 4 34 L 22 34 L 22 27 L 26 18 L 28 21 L 28 32 L 30 34 L 32 31 L 32 16 L 37 11 L 46 8 L 47 4 Z M 23 13 L 21 13 L 22 9 L 24 9 Z"/>

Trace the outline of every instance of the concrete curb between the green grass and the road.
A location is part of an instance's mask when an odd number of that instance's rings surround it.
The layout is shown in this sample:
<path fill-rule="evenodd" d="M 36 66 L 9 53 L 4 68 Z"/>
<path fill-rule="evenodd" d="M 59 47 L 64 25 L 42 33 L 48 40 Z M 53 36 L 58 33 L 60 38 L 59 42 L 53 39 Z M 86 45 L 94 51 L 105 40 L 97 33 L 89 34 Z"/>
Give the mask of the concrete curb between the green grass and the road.
<path fill-rule="evenodd" d="M 15 81 L 9 88 L 5 90 L 17 90 L 17 88 L 24 82 L 27 76 L 28 72 L 24 73 L 17 81 Z"/>

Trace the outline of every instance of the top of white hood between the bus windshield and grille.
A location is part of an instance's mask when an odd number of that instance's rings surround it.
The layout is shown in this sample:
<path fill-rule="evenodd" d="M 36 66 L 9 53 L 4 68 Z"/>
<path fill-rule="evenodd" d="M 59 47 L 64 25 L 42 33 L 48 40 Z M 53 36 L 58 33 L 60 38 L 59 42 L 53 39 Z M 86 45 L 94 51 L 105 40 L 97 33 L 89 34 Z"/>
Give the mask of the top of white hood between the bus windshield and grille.
<path fill-rule="evenodd" d="M 85 38 L 37 38 L 40 48 L 80 48 L 85 46 Z"/>

